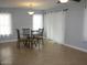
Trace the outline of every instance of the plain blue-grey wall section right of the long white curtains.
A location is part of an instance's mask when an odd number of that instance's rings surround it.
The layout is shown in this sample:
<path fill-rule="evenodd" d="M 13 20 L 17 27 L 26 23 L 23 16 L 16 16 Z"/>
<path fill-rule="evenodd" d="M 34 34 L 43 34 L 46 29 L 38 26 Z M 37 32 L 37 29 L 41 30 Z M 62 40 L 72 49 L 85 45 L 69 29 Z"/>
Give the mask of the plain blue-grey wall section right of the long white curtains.
<path fill-rule="evenodd" d="M 84 8 L 69 8 L 65 23 L 65 44 L 84 47 L 83 44 Z"/>

